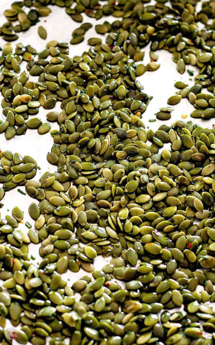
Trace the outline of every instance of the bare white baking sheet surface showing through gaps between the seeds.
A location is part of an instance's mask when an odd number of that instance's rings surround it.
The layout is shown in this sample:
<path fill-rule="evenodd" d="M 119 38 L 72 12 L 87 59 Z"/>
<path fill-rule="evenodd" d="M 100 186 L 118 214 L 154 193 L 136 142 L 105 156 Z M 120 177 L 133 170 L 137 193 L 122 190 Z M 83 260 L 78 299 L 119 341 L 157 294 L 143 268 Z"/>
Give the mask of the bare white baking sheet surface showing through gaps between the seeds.
<path fill-rule="evenodd" d="M 6 21 L 6 18 L 3 15 L 4 10 L 9 9 L 13 0 L 1 0 L 0 1 L 0 26 Z M 80 26 L 79 23 L 74 22 L 71 17 L 69 17 L 64 8 L 59 8 L 57 6 L 49 6 L 52 10 L 51 14 L 48 17 L 42 17 L 40 23 L 37 23 L 35 26 L 32 26 L 26 32 L 18 33 L 19 39 L 15 42 L 12 42 L 13 47 L 18 42 L 23 43 L 23 45 L 32 45 L 37 51 L 42 51 L 45 48 L 46 42 L 50 40 L 58 40 L 59 42 L 69 42 L 72 38 L 72 31 L 75 28 Z M 198 8 L 200 7 L 200 3 L 198 4 Z M 28 12 L 28 9 L 26 9 Z M 91 22 L 94 26 L 95 24 L 102 24 L 105 20 L 110 22 L 114 21 L 115 18 L 103 17 L 98 21 L 88 18 L 83 14 L 84 21 L 83 22 Z M 42 25 L 47 30 L 47 39 L 43 40 L 37 34 L 37 28 L 39 25 Z M 85 33 L 85 40 L 80 43 L 79 45 L 69 45 L 69 55 L 72 57 L 74 55 L 80 55 L 83 51 L 89 49 L 89 45 L 87 44 L 87 40 L 90 37 L 101 37 L 105 39 L 105 36 L 98 35 L 95 32 L 94 27 L 89 29 Z M 0 37 L 0 47 L 3 48 L 6 42 Z M 149 58 L 149 51 L 150 46 L 145 47 L 143 50 L 145 51 L 145 56 L 143 59 L 143 63 L 146 65 L 150 62 Z M 159 59 L 158 62 L 160 63 L 161 67 L 155 72 L 145 72 L 143 76 L 139 78 L 139 81 L 144 87 L 144 92 L 148 95 L 152 95 L 153 99 L 151 100 L 147 110 L 143 114 L 143 120 L 145 123 L 146 128 L 149 126 L 152 130 L 156 130 L 161 124 L 171 124 L 177 119 L 182 119 L 182 114 L 187 114 L 187 120 L 192 120 L 194 123 L 198 123 L 203 127 L 211 127 L 213 123 L 215 123 L 215 119 L 209 119 L 204 121 L 202 119 L 192 119 L 190 117 L 190 113 L 194 110 L 193 106 L 187 99 L 182 99 L 181 102 L 173 106 L 175 109 L 172 111 L 172 118 L 168 121 L 160 121 L 156 120 L 155 122 L 149 122 L 149 119 L 156 118 L 154 113 L 159 111 L 160 107 L 167 106 L 166 100 L 174 94 L 174 91 L 178 91 L 174 88 L 175 81 L 186 81 L 189 83 L 189 86 L 194 84 L 194 78 L 190 77 L 187 71 L 180 75 L 176 71 L 176 65 L 172 61 L 172 54 L 168 51 L 158 51 Z M 21 65 L 21 71 L 24 70 L 24 63 Z M 194 75 L 197 72 L 197 69 L 193 66 L 186 66 L 186 70 L 191 69 L 194 70 Z M 30 77 L 32 78 L 32 77 Z M 36 80 L 37 77 L 32 80 Z M 191 80 L 190 80 L 191 79 Z M 0 95 L 0 101 L 2 96 Z M 0 106 L 1 107 L 1 106 Z M 56 111 L 60 111 L 60 103 L 57 102 L 55 107 Z M 46 114 L 49 110 L 44 110 L 40 107 L 40 111 L 38 117 L 42 119 L 43 122 L 49 122 L 46 120 Z M 4 118 L 2 112 L 0 111 L 0 118 Z M 50 125 L 52 129 L 58 128 L 56 123 L 51 123 Z M 37 130 L 27 130 L 26 134 L 23 136 L 15 136 L 10 140 L 6 140 L 4 134 L 0 134 L 0 149 L 1 150 L 11 150 L 12 152 L 19 152 L 21 155 L 30 155 L 34 159 L 36 159 L 37 164 L 41 167 L 41 170 L 37 170 L 37 175 L 34 179 L 39 179 L 41 174 L 45 171 L 54 172 L 56 171 L 56 166 L 52 166 L 47 162 L 46 155 L 47 152 L 51 150 L 53 145 L 53 139 L 49 133 L 46 135 L 39 135 Z M 24 187 L 19 187 L 21 190 L 25 191 Z M 35 199 L 31 198 L 28 195 L 22 195 L 18 193 L 17 188 L 9 191 L 6 193 L 4 199 L 1 201 L 4 206 L 0 209 L 1 217 L 5 217 L 5 215 L 10 214 L 11 210 L 15 205 L 21 206 L 24 211 L 24 223 L 29 221 L 32 225 L 34 225 L 34 220 L 30 218 L 28 214 L 28 207 L 30 203 L 37 202 Z M 28 231 L 24 224 L 20 224 L 19 229 L 23 231 Z M 30 245 L 30 254 L 36 257 L 34 262 L 40 262 L 41 258 L 38 255 L 39 246 Z M 95 268 L 101 269 L 104 264 L 109 262 L 110 258 L 102 258 L 99 257 L 95 260 Z M 69 278 L 69 285 L 77 280 L 79 277 L 85 275 L 82 269 L 78 273 L 72 273 L 68 271 L 64 274 L 64 278 Z M 7 323 L 7 327 L 9 327 L 10 323 Z M 17 327 L 19 328 L 19 326 Z M 14 342 L 14 341 L 13 341 Z M 16 342 L 14 342 L 15 344 Z"/>

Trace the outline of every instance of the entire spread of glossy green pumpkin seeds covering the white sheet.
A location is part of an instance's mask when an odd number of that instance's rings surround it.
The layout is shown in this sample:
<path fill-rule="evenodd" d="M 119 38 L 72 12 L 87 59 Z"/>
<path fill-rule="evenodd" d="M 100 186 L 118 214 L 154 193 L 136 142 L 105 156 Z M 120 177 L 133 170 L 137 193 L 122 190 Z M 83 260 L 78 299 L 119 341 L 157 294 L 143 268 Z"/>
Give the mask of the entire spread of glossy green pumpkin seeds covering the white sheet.
<path fill-rule="evenodd" d="M 17 206 L 12 216 L 0 219 L 0 341 L 11 343 L 5 328 L 9 318 L 14 327 L 21 325 L 21 344 L 45 345 L 51 336 L 50 345 L 63 345 L 65 338 L 71 345 L 212 345 L 215 130 L 179 120 L 147 131 L 142 114 L 151 97 L 137 77 L 160 67 L 156 50 L 169 50 L 179 73 L 187 64 L 200 72 L 191 88 L 176 82 L 180 91 L 168 104 L 187 97 L 197 108 L 192 117 L 212 117 L 214 96 L 202 88 L 214 92 L 214 20 L 207 24 L 214 4 L 203 3 L 197 13 L 197 1 L 172 1 L 171 8 L 165 1 L 153 6 L 82 1 L 73 8 L 70 0 L 17 1 L 4 13 L 8 22 L 2 37 L 18 39 L 18 32 L 51 12 L 49 4 L 66 7 L 77 22 L 82 12 L 123 19 L 96 25 L 97 33 L 108 33 L 106 44 L 90 38 L 82 56 L 70 58 L 68 44 L 55 40 L 39 53 L 22 43 L 14 53 L 10 43 L 3 48 L 0 90 L 6 121 L 0 132 L 7 139 L 27 128 L 49 132 L 48 123 L 29 119 L 40 106 L 53 109 L 46 118 L 58 128 L 51 131 L 47 153 L 57 171 L 44 172 L 39 181 L 27 181 L 36 173 L 32 158 L 1 152 L 1 197 L 25 185 L 35 198 L 29 206 L 35 224 L 26 223 L 28 234 L 18 230 L 23 211 Z M 205 27 L 200 30 L 197 21 Z M 83 41 L 90 27 L 81 24 L 70 43 Z M 38 33 L 46 39 L 43 27 Z M 151 62 L 137 65 L 149 42 Z M 20 73 L 22 61 L 28 72 Z M 172 110 L 160 108 L 156 116 L 170 119 Z M 29 257 L 30 243 L 39 244 L 38 264 Z M 94 268 L 98 255 L 110 257 L 99 271 Z M 61 275 L 80 268 L 88 275 L 69 286 Z"/>

